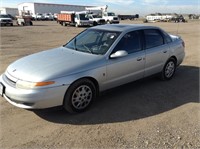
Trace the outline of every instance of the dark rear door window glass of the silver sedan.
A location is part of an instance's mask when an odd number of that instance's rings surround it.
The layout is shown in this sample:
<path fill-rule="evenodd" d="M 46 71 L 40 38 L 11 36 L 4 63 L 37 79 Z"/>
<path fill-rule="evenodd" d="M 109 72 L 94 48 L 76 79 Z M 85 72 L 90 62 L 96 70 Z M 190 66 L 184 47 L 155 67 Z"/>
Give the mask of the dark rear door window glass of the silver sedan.
<path fill-rule="evenodd" d="M 161 33 L 155 29 L 144 30 L 146 49 L 157 47 L 164 44 Z"/>

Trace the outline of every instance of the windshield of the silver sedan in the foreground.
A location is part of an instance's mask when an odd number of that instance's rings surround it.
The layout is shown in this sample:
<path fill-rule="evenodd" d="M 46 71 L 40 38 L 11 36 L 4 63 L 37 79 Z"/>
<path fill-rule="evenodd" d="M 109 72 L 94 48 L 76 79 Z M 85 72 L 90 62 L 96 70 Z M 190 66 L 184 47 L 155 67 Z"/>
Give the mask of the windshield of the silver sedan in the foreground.
<path fill-rule="evenodd" d="M 120 32 L 117 31 L 87 29 L 64 47 L 81 52 L 103 55 L 108 51 L 119 34 Z"/>

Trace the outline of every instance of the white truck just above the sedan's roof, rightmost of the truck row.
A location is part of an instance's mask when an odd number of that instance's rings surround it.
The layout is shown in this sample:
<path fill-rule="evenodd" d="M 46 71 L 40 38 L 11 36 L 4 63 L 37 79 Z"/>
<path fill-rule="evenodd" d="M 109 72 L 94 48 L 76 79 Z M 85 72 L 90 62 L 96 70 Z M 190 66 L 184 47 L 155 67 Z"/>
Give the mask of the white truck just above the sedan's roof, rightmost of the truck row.
<path fill-rule="evenodd" d="M 107 24 L 118 24 L 119 17 L 115 15 L 113 12 L 103 12 L 103 19 L 107 22 Z"/>

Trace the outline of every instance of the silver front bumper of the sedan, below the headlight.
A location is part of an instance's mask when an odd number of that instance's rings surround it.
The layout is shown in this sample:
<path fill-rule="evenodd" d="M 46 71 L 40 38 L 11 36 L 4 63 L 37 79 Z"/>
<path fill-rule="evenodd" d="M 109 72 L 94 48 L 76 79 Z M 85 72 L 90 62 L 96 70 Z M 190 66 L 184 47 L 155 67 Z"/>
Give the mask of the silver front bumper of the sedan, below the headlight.
<path fill-rule="evenodd" d="M 3 75 L 0 83 L 4 86 L 3 97 L 12 105 L 24 109 L 44 109 L 63 104 L 65 92 L 69 86 L 52 88 L 18 89 L 8 84 Z"/>

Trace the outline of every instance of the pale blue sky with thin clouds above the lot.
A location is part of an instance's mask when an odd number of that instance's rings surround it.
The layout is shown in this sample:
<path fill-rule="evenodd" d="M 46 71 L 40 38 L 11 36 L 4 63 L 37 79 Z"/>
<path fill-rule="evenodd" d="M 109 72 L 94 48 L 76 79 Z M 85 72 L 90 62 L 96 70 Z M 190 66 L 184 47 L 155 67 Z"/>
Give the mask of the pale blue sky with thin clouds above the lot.
<path fill-rule="evenodd" d="M 200 14 L 200 0 L 0 0 L 0 7 L 16 7 L 23 2 L 103 6 L 117 14 L 195 13 Z"/>

